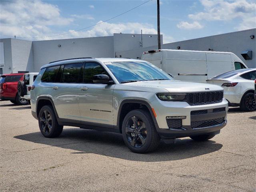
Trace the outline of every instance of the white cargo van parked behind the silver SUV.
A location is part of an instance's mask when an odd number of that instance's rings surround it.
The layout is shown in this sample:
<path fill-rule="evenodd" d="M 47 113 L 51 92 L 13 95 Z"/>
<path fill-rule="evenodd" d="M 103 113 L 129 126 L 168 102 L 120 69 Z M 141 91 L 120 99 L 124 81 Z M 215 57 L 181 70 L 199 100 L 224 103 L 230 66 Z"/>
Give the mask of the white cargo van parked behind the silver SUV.
<path fill-rule="evenodd" d="M 141 59 L 172 74 L 176 80 L 194 82 L 205 82 L 218 74 L 247 68 L 231 52 L 161 49 L 144 52 Z"/>

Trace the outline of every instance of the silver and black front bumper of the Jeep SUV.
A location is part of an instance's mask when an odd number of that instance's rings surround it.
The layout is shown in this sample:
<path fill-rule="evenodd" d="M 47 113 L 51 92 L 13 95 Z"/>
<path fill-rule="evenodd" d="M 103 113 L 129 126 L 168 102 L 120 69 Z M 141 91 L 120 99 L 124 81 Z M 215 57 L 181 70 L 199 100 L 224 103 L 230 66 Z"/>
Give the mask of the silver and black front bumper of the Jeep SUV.
<path fill-rule="evenodd" d="M 152 107 L 156 112 L 156 122 L 158 124 L 157 131 L 162 138 L 181 138 L 198 134 L 207 134 L 210 132 L 218 132 L 227 124 L 228 102 L 223 98 L 220 103 L 204 104 L 204 105 L 189 105 L 187 102 L 164 102 L 161 100 L 154 100 Z M 214 112 L 219 108 L 223 111 Z M 206 114 L 196 114 L 194 111 L 206 110 Z M 192 112 L 192 113 L 191 113 Z M 181 128 L 170 128 L 166 117 L 185 116 L 180 120 Z M 215 120 L 221 120 L 219 123 Z M 214 122 L 211 124 L 209 122 Z M 202 122 L 197 127 L 197 123 Z"/>

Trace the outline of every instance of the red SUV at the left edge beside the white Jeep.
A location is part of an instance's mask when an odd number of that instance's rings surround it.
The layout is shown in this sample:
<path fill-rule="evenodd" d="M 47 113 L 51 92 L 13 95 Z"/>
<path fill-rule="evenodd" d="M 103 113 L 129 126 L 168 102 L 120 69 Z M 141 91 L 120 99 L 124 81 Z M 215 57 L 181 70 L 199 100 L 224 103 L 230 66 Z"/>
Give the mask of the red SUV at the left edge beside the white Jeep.
<path fill-rule="evenodd" d="M 27 105 L 28 102 L 18 95 L 18 81 L 23 80 L 23 73 L 4 74 L 0 78 L 0 99 L 10 100 L 18 105 Z"/>

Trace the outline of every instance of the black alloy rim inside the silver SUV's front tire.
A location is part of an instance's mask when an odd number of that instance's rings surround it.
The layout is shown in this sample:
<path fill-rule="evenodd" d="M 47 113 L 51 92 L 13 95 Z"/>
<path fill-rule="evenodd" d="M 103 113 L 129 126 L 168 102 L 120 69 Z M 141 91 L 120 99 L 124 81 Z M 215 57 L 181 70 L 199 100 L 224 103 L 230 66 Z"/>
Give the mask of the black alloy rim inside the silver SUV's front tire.
<path fill-rule="evenodd" d="M 146 125 L 139 117 L 132 116 L 126 123 L 125 134 L 131 146 L 140 148 L 147 139 Z"/>

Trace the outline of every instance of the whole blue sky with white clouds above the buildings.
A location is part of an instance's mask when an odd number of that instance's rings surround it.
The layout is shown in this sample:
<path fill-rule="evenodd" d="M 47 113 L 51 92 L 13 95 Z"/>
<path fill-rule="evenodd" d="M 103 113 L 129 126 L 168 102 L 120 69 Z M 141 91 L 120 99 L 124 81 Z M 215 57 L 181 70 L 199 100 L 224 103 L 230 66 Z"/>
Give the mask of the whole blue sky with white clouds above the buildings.
<path fill-rule="evenodd" d="M 156 0 L 108 22 L 73 32 L 143 2 L 146 0 L 1 0 L 0 34 L 45 40 L 139 33 L 141 29 L 144 33 L 156 33 Z M 255 0 L 160 1 L 160 28 L 165 43 L 255 27 Z M 48 37 L 67 32 L 72 33 Z M 0 38 L 8 36 L 0 35 Z"/>

